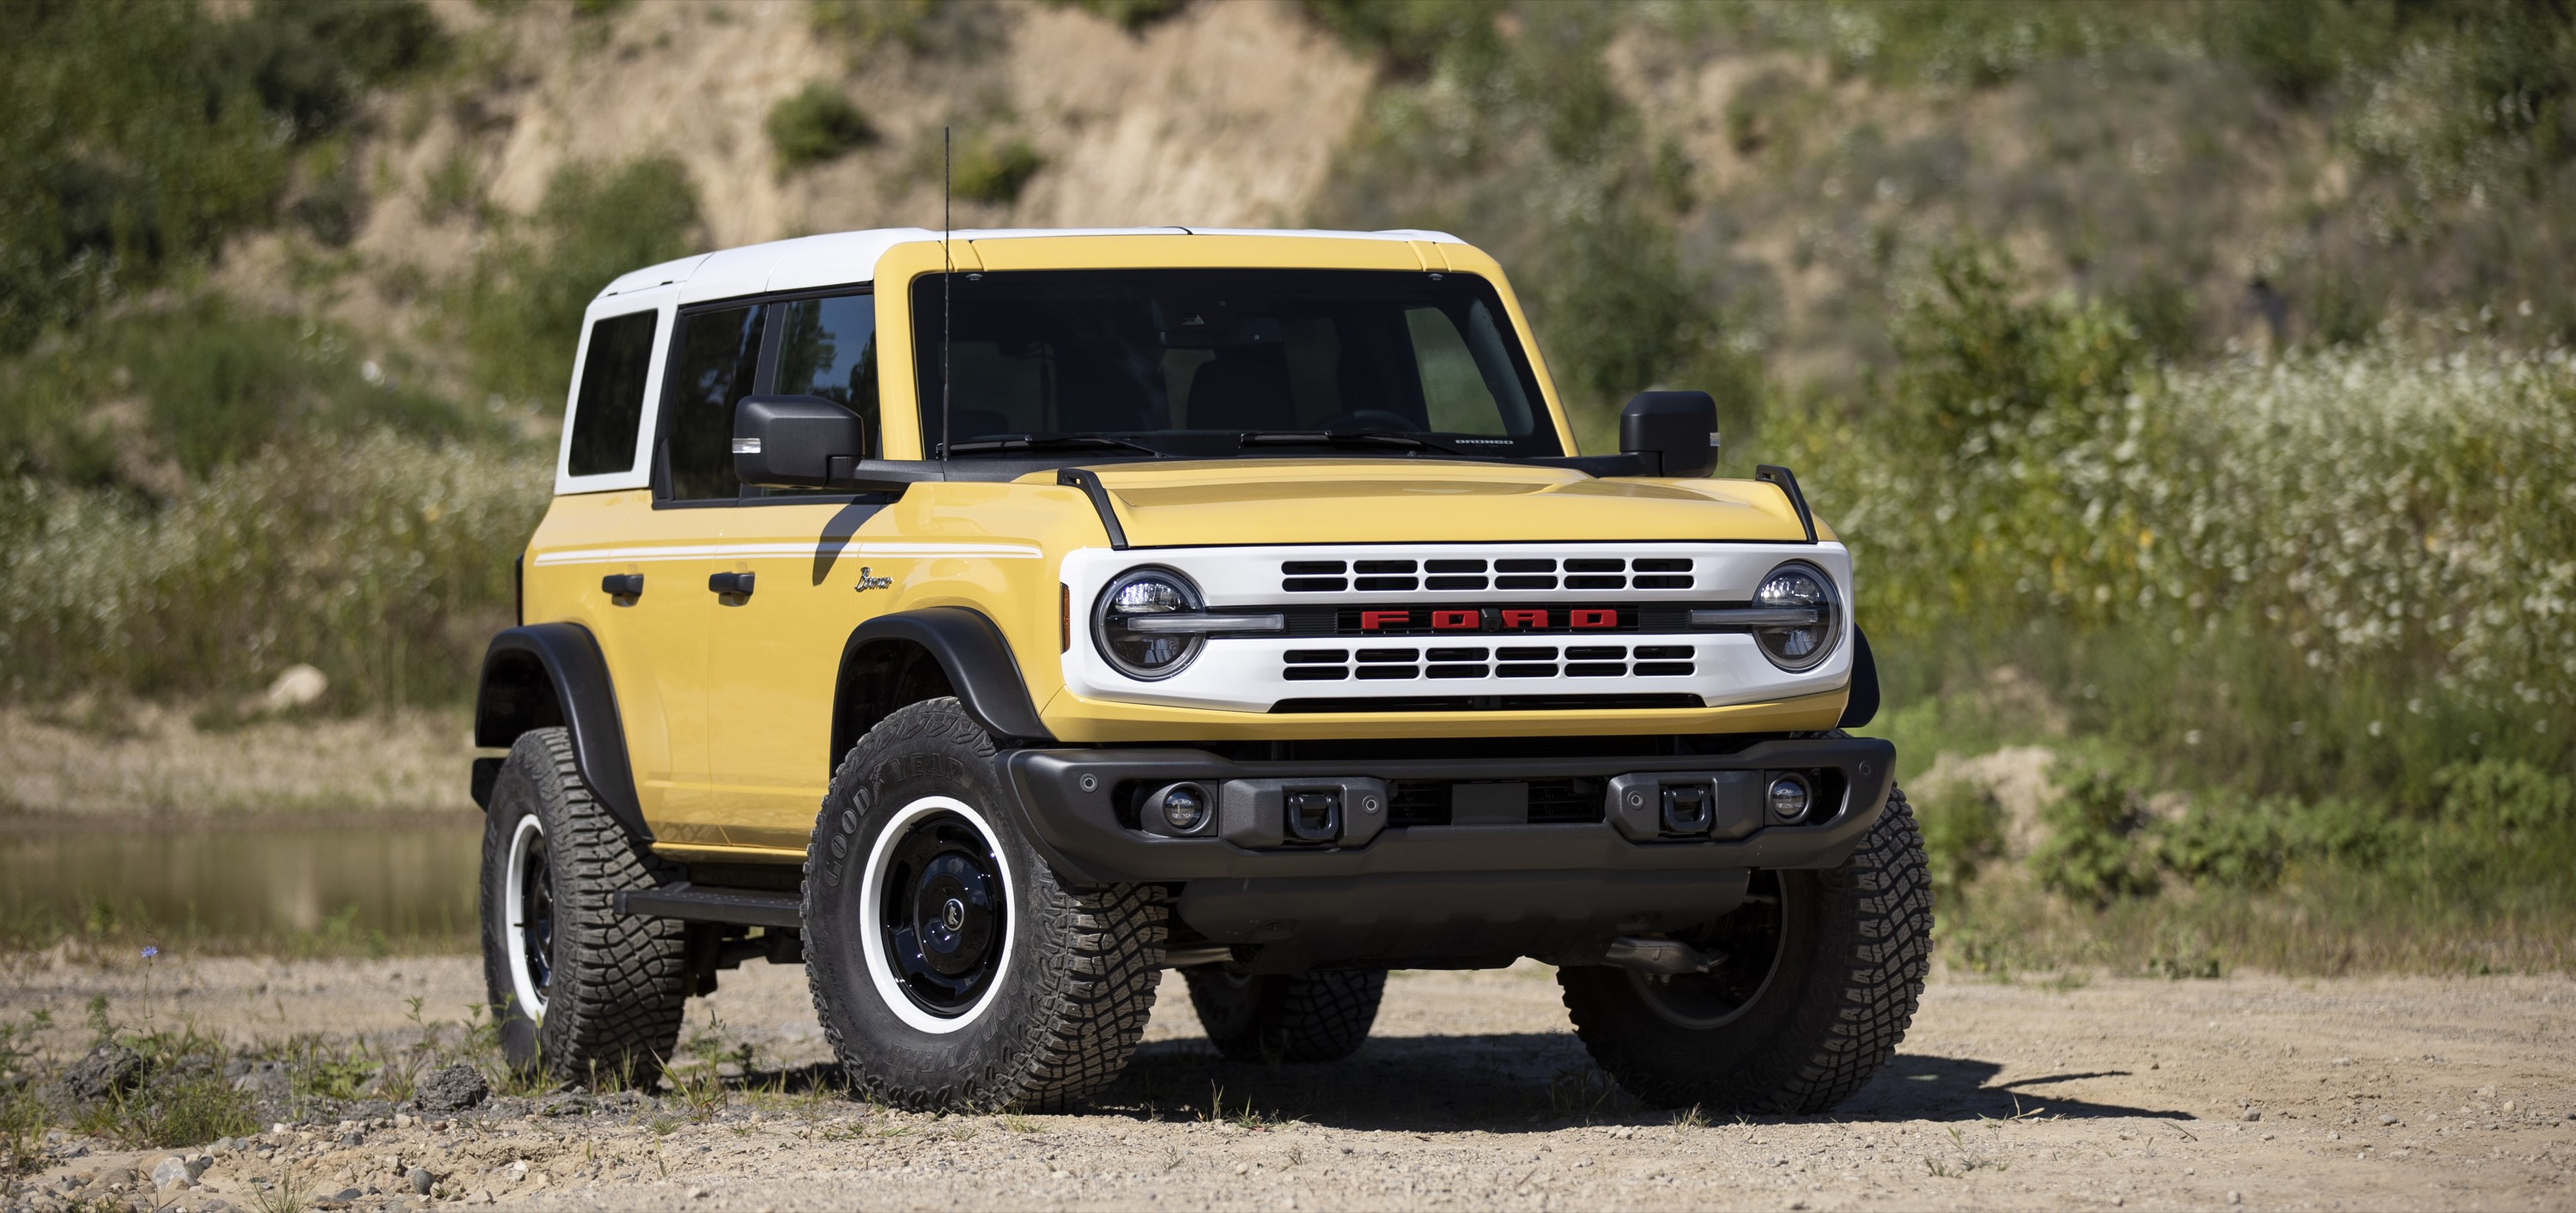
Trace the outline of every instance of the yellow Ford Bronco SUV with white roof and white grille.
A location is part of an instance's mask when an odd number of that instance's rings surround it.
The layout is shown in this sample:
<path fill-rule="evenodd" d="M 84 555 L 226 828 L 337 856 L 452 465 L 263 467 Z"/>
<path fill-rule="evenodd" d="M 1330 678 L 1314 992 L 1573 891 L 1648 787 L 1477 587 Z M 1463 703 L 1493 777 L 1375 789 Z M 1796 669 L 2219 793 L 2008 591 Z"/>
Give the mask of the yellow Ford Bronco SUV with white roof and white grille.
<path fill-rule="evenodd" d="M 1850 554 L 1716 407 L 1574 448 L 1437 232 L 848 232 L 590 304 L 484 659 L 518 1064 L 649 1077 L 804 963 L 855 1092 L 1066 1107 L 1162 968 L 1236 1058 L 1388 968 L 1556 966 L 1656 1105 L 1891 1056 L 1929 883 Z"/>

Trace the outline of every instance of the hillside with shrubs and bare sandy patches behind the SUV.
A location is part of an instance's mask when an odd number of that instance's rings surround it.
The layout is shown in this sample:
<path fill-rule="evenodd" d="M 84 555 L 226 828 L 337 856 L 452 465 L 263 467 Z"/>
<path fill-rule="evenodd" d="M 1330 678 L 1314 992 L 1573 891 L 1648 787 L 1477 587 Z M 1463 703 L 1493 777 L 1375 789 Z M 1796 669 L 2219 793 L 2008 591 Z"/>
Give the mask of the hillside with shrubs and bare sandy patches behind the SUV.
<path fill-rule="evenodd" d="M 299 662 L 332 685 L 309 711 L 453 708 L 598 286 L 935 227 L 951 129 L 958 227 L 1458 232 L 1512 268 L 1587 443 L 1636 389 L 1716 391 L 1723 471 L 1798 466 L 1855 546 L 1878 729 L 1940 773 L 1924 827 L 1991 963 L 2530 966 L 2576 937 L 2566 5 L 137 0 L 21 26 L 15 708 L 227 729 Z M 2050 796 L 2014 791 L 2040 773 Z"/>

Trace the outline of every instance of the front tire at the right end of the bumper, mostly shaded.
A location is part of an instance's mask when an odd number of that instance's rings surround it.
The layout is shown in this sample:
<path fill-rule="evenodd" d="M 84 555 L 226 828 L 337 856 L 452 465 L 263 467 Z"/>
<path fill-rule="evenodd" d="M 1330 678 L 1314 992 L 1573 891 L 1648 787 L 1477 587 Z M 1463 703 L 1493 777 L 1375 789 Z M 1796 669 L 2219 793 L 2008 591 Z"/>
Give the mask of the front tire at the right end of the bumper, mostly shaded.
<path fill-rule="evenodd" d="M 1710 976 L 1561 968 L 1584 1048 L 1656 1107 L 1824 1113 L 1865 1087 L 1914 1022 L 1932 881 L 1904 791 L 1834 870 L 1754 873 L 1754 899 L 1695 932 Z"/>

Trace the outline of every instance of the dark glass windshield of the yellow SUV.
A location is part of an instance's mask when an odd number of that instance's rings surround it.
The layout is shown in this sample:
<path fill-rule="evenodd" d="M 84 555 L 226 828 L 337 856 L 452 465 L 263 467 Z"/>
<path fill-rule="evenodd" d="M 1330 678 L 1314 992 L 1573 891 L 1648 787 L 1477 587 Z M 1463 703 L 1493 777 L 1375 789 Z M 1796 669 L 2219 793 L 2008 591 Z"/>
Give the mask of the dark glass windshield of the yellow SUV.
<path fill-rule="evenodd" d="M 997 270 L 912 283 L 922 435 L 958 458 L 1558 456 L 1502 299 L 1466 273 Z M 1074 438 L 1082 435 L 1082 438 Z M 1110 440 L 1115 438 L 1115 440 Z"/>

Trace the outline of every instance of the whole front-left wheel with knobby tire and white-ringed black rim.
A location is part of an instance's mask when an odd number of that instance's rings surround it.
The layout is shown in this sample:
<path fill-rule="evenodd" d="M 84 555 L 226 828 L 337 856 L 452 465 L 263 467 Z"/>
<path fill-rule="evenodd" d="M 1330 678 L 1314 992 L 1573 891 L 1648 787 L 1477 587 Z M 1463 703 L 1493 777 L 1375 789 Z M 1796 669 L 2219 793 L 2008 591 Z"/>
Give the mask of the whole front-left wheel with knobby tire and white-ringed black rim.
<path fill-rule="evenodd" d="M 853 1095 L 1074 1107 L 1154 1012 L 1164 891 L 1059 881 L 992 757 L 938 698 L 886 716 L 832 775 L 806 845 L 806 981 Z"/>

